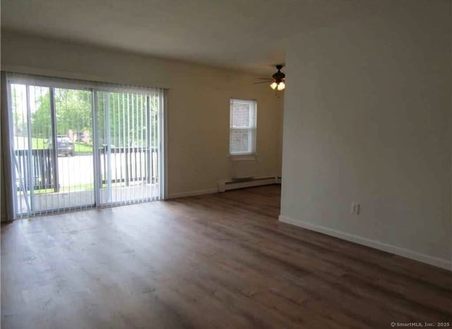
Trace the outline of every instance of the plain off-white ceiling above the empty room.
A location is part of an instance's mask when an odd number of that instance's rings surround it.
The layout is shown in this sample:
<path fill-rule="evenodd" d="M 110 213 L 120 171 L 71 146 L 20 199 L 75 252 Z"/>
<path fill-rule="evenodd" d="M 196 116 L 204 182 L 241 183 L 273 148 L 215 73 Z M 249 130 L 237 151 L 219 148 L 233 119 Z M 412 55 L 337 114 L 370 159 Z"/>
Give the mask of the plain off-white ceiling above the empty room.
<path fill-rule="evenodd" d="M 288 36 L 387 10 L 396 2 L 1 0 L 1 27 L 267 74 L 284 63 Z"/>

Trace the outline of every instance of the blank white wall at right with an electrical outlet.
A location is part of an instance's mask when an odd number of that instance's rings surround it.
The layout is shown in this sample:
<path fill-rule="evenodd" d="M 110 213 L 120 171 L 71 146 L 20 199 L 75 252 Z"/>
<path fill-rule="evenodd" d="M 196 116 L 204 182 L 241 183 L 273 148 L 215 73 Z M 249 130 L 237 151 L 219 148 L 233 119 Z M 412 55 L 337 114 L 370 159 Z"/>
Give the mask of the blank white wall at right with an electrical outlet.
<path fill-rule="evenodd" d="M 411 4 L 290 40 L 280 220 L 451 268 L 452 3 Z"/>

